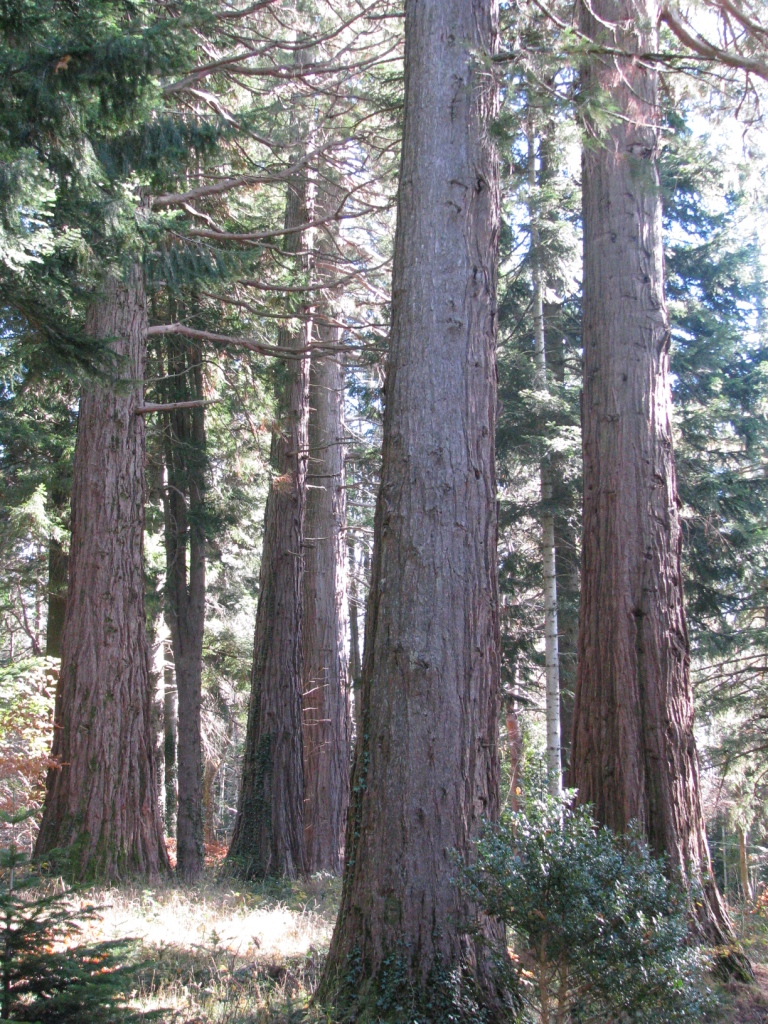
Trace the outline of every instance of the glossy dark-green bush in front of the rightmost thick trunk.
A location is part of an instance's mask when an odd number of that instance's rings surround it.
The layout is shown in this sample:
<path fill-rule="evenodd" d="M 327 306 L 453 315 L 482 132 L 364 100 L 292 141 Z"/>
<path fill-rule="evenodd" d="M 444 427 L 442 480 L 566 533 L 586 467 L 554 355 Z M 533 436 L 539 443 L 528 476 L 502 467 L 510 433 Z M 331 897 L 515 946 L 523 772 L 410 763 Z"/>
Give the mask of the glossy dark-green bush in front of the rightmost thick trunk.
<path fill-rule="evenodd" d="M 547 799 L 487 826 L 464 872 L 514 934 L 521 991 L 542 1024 L 700 1021 L 711 995 L 687 899 L 636 834 Z"/>

